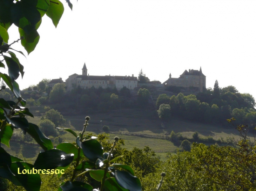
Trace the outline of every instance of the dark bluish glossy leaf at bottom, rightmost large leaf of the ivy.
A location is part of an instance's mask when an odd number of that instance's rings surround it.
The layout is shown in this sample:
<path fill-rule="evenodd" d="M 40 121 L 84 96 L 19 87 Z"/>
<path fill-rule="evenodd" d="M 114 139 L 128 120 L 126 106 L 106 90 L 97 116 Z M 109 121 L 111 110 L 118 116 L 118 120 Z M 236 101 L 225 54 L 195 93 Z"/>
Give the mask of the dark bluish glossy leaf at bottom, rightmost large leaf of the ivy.
<path fill-rule="evenodd" d="M 139 178 L 131 175 L 127 171 L 115 171 L 116 182 L 125 189 L 130 191 L 141 191 L 141 182 Z"/>

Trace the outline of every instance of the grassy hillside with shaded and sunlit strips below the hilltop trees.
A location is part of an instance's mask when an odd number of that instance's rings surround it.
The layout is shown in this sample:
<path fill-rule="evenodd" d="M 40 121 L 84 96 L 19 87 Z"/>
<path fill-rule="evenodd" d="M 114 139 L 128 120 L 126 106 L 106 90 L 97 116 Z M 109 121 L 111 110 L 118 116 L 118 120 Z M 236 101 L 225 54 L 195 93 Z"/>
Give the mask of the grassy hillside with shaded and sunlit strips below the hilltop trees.
<path fill-rule="evenodd" d="M 38 110 L 40 109 L 40 110 Z M 41 108 L 35 108 L 34 112 L 42 112 Z M 165 156 L 167 152 L 175 152 L 177 149 L 172 142 L 164 139 L 152 139 L 132 136 L 131 134 L 147 134 L 153 136 L 163 136 L 174 132 L 180 132 L 183 136 L 191 138 L 195 131 L 199 132 L 200 137 L 212 136 L 214 139 L 226 140 L 227 137 L 234 136 L 236 130 L 234 127 L 220 127 L 217 125 L 191 123 L 184 120 L 172 119 L 170 122 L 162 123 L 158 118 L 156 111 L 153 110 L 123 110 L 123 111 L 109 111 L 108 113 L 94 113 L 81 116 L 65 116 L 70 121 L 70 126 L 75 131 L 81 131 L 83 124 L 85 123 L 85 116 L 89 115 L 91 120 L 87 128 L 87 132 L 93 134 L 99 134 L 101 132 L 101 126 L 107 125 L 110 127 L 110 138 L 119 136 L 125 140 L 125 146 L 128 150 L 132 150 L 133 147 L 143 148 L 149 146 L 152 148 L 157 156 L 161 157 L 161 160 L 166 160 Z M 29 122 L 37 124 L 40 117 L 29 117 Z M 102 121 L 102 122 L 100 122 Z M 228 125 L 228 124 L 227 124 Z M 121 134 L 122 133 L 122 134 Z M 125 135 L 130 134 L 130 135 Z M 74 142 L 74 136 L 72 134 L 62 132 L 61 135 L 66 141 Z M 238 137 L 238 135 L 235 135 Z M 10 142 L 11 148 L 4 146 L 7 152 L 19 156 L 22 154 L 24 157 L 29 158 L 27 160 L 35 160 L 37 154 L 42 151 L 38 146 L 32 144 L 22 144 L 17 142 Z M 21 156 L 21 155 L 20 155 Z"/>

